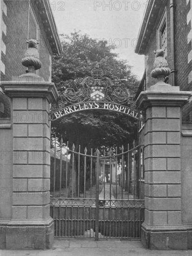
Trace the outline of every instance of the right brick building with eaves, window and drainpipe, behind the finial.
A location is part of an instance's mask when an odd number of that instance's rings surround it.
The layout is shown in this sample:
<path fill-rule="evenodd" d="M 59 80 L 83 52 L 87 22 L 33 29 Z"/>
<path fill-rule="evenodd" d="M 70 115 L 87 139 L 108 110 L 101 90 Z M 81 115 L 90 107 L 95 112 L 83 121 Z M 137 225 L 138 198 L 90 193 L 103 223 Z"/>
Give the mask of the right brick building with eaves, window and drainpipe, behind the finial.
<path fill-rule="evenodd" d="M 172 74 L 166 82 L 179 86 L 182 91 L 192 91 L 192 0 L 149 0 L 140 27 L 135 53 L 144 54 L 145 73 L 143 87 L 155 84 L 151 77 L 154 53 L 163 48 Z M 183 108 L 183 121 L 192 121 L 192 101 Z"/>

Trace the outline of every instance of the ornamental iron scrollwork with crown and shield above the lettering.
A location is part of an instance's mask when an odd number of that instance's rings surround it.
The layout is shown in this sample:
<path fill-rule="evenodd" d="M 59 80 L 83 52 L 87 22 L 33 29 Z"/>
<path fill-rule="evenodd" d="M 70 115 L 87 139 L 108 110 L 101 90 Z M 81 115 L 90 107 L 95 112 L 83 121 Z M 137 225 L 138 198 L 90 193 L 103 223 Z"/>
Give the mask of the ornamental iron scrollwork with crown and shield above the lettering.
<path fill-rule="evenodd" d="M 96 65 L 91 71 L 91 76 L 74 83 L 73 87 L 66 88 L 64 92 L 60 93 L 58 101 L 52 103 L 50 119 L 53 112 L 60 111 L 70 104 L 90 101 L 125 104 L 126 107 L 138 111 L 128 88 L 125 85 L 119 85 L 119 82 L 105 77 L 104 71 Z"/>

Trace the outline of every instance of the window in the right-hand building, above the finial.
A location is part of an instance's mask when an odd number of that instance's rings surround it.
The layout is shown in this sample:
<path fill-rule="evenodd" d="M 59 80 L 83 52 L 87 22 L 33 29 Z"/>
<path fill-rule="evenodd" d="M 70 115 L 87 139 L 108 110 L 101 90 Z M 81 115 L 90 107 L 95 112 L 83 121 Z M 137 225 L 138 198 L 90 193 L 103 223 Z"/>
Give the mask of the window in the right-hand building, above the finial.
<path fill-rule="evenodd" d="M 165 51 L 165 58 L 167 59 L 167 25 L 166 25 L 166 10 L 159 22 L 157 29 L 157 48 Z"/>

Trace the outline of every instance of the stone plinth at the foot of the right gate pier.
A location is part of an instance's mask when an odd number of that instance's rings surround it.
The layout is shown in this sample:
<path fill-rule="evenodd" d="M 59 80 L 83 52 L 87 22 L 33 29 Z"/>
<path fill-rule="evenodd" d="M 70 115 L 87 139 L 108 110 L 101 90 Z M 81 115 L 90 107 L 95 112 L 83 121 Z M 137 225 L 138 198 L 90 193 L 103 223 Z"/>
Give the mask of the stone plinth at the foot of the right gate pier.
<path fill-rule="evenodd" d="M 169 231 L 158 230 L 147 231 L 141 228 L 141 243 L 146 249 L 154 250 L 187 250 L 192 249 L 192 229 L 187 230 L 187 226 L 170 229 Z M 179 230 L 180 229 L 180 230 Z"/>

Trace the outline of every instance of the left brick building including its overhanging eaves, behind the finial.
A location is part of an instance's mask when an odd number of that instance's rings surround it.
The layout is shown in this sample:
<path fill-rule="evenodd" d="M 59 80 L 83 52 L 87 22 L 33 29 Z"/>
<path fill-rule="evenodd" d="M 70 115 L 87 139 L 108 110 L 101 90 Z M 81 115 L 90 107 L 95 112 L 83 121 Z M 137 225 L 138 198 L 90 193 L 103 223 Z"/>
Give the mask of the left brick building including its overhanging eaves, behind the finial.
<path fill-rule="evenodd" d="M 0 80 L 10 81 L 12 76 L 25 73 L 21 59 L 27 49 L 28 31 L 28 39 L 39 41 L 42 67 L 36 72 L 51 81 L 51 55 L 60 54 L 62 49 L 49 1 L 1 0 L 0 4 Z"/>

